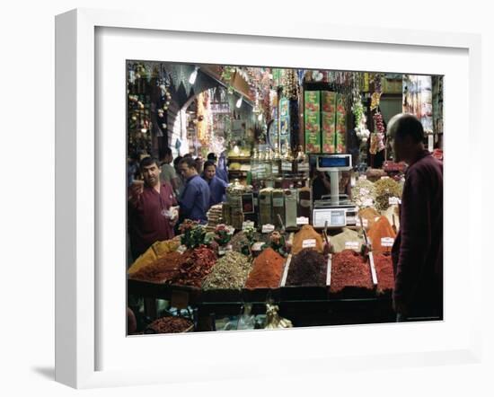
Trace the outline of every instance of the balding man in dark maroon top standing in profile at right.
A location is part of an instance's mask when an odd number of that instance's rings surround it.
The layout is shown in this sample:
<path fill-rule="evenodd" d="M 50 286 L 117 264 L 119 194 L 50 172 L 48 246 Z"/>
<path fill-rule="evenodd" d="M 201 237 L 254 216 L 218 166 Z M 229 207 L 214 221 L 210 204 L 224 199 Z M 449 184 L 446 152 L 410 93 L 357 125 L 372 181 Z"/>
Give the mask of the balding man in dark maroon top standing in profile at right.
<path fill-rule="evenodd" d="M 394 161 L 408 164 L 400 231 L 393 244 L 393 308 L 397 321 L 443 318 L 443 164 L 424 148 L 415 116 L 388 124 Z"/>

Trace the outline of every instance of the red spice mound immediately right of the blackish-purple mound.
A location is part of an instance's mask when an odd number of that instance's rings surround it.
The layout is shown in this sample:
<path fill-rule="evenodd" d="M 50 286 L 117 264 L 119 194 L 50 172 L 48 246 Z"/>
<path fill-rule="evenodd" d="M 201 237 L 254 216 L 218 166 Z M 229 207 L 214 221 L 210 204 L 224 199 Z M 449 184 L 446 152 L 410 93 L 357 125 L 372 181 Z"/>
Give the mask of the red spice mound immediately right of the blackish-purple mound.
<path fill-rule="evenodd" d="M 338 252 L 331 259 L 330 292 L 337 293 L 345 287 L 373 289 L 366 258 L 352 250 Z"/>

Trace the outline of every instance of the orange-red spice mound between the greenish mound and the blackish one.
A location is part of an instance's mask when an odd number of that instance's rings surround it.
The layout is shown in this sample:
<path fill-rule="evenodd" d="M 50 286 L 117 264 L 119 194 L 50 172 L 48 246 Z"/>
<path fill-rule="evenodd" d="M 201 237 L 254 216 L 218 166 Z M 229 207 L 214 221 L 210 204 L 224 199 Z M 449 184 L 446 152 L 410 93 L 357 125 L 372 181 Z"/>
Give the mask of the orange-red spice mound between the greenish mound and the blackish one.
<path fill-rule="evenodd" d="M 246 288 L 278 288 L 283 275 L 285 259 L 272 248 L 266 248 L 254 260 Z"/>

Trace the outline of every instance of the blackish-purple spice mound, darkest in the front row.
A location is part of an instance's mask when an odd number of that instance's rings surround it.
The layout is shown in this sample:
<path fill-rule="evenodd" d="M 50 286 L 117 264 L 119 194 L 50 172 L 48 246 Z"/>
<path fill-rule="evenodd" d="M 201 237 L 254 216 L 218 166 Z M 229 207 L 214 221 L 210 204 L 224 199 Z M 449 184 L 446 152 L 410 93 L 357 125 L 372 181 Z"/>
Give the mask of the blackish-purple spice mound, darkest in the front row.
<path fill-rule="evenodd" d="M 324 287 L 326 285 L 327 260 L 321 253 L 304 248 L 290 261 L 287 286 Z"/>

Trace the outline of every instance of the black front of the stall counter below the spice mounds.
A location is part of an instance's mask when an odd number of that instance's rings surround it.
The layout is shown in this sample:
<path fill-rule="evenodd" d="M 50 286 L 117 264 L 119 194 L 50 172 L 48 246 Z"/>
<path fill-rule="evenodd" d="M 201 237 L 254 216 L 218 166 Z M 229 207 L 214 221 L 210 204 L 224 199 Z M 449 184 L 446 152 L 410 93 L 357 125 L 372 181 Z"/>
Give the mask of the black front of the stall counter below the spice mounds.
<path fill-rule="evenodd" d="M 239 315 L 247 303 L 252 304 L 253 314 L 264 313 L 267 301 L 278 304 L 280 315 L 296 327 L 393 322 L 395 318 L 391 292 L 378 293 L 375 289 L 344 288 L 332 294 L 328 288 L 321 287 L 281 287 L 246 293 L 245 289 L 203 291 L 128 279 L 128 294 L 167 299 L 172 305 L 196 308 L 200 331 L 214 331 L 215 318 Z M 148 315 L 156 318 L 156 313 Z"/>

